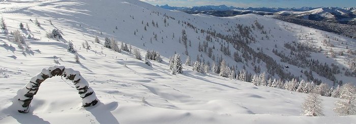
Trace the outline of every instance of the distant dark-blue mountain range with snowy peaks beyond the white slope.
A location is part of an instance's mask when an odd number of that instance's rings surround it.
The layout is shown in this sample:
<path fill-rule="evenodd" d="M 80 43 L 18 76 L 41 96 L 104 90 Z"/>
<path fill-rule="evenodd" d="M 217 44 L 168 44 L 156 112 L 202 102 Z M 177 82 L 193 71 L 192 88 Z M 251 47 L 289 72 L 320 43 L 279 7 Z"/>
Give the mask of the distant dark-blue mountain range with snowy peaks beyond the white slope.
<path fill-rule="evenodd" d="M 161 7 L 168 10 L 179 10 L 189 14 L 206 14 L 219 17 L 229 17 L 244 14 L 281 15 L 288 18 L 356 25 L 356 8 L 236 8 L 228 7 L 226 5 L 196 6 L 190 8 L 157 5 L 157 7 Z"/>

